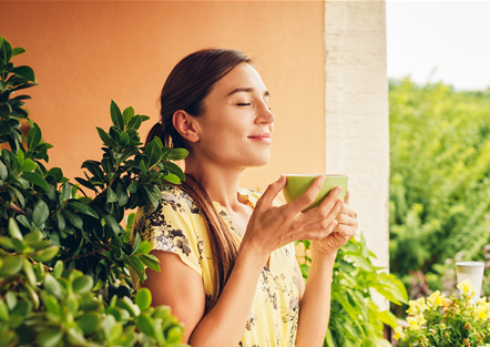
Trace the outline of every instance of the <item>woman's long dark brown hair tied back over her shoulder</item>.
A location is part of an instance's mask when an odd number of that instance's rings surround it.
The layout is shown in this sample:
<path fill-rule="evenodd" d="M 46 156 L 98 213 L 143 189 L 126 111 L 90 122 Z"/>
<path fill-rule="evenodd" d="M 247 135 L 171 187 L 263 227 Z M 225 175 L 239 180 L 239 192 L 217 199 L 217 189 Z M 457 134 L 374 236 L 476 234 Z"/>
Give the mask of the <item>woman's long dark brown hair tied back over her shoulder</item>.
<path fill-rule="evenodd" d="M 251 58 L 241 51 L 227 49 L 201 50 L 181 60 L 163 85 L 160 98 L 161 122 L 151 129 L 145 145 L 159 136 L 165 146 L 186 147 L 185 140 L 173 126 L 174 113 L 184 110 L 193 116 L 202 115 L 204 99 L 212 91 L 214 83 L 243 62 L 251 63 Z M 207 313 L 223 292 L 235 265 L 239 246 L 196 177 L 187 174 L 181 187 L 196 202 L 207 225 L 215 288 L 211 303 L 206 303 Z"/>

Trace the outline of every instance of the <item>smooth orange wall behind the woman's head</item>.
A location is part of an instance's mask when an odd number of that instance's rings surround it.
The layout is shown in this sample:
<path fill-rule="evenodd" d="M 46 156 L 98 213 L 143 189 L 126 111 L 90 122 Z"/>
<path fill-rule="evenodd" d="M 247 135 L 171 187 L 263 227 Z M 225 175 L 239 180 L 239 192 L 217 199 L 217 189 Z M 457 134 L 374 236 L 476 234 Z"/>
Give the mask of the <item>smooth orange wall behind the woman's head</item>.
<path fill-rule="evenodd" d="M 0 35 L 27 53 L 39 86 L 28 109 L 50 150 L 48 167 L 81 175 L 101 157 L 95 126 L 109 129 L 110 101 L 157 120 L 172 67 L 206 47 L 255 57 L 276 115 L 272 160 L 242 185 L 264 190 L 280 173 L 325 167 L 324 4 L 316 2 L 0 2 Z"/>

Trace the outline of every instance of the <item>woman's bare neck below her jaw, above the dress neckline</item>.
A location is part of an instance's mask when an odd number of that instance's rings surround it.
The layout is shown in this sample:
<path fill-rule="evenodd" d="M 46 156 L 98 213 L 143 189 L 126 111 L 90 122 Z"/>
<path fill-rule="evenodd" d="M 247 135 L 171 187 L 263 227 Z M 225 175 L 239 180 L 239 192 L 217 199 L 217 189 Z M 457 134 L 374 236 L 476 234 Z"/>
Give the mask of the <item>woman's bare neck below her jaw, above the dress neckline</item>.
<path fill-rule="evenodd" d="M 242 205 L 237 191 L 245 167 L 224 166 L 213 162 L 201 165 L 192 159 L 185 160 L 185 173 L 197 178 L 212 201 L 233 211 Z"/>

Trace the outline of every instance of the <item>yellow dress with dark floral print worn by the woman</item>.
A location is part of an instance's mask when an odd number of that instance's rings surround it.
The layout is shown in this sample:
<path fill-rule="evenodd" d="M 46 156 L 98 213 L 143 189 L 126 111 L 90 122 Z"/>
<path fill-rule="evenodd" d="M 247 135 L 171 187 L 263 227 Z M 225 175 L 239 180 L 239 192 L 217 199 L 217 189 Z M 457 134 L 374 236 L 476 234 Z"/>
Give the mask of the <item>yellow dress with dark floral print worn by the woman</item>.
<path fill-rule="evenodd" d="M 238 194 L 255 206 L 259 192 L 239 188 Z M 279 205 L 276 201 L 275 205 Z M 233 228 L 226 208 L 214 203 L 216 211 L 229 227 L 229 232 L 242 241 Z M 182 262 L 196 271 L 204 282 L 206 303 L 214 290 L 214 266 L 204 220 L 192 197 L 180 187 L 170 187 L 162 193 L 159 207 L 140 208 L 134 218 L 131 242 L 136 233 L 142 241 L 150 242 L 152 249 L 177 254 Z M 259 276 L 254 302 L 244 326 L 239 347 L 294 346 L 298 325 L 298 276 L 296 273 L 294 244 L 270 254 L 269 267 L 264 266 Z M 141 287 L 139 277 L 131 271 L 135 289 Z M 303 278 L 300 279 L 303 280 Z"/>

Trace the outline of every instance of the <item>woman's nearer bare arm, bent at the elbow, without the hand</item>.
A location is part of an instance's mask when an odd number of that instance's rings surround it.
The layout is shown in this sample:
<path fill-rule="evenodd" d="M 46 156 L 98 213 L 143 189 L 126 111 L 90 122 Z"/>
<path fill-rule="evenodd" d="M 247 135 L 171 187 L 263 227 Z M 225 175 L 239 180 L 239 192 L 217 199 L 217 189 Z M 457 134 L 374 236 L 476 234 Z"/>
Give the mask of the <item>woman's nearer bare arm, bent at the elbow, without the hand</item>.
<path fill-rule="evenodd" d="M 153 294 L 153 305 L 169 305 L 184 323 L 183 343 L 193 347 L 238 345 L 255 296 L 258 276 L 267 258 L 259 259 L 241 249 L 235 267 L 213 309 L 203 318 L 203 278 L 176 254 L 152 251 L 160 273 L 146 269 L 144 285 Z"/>

